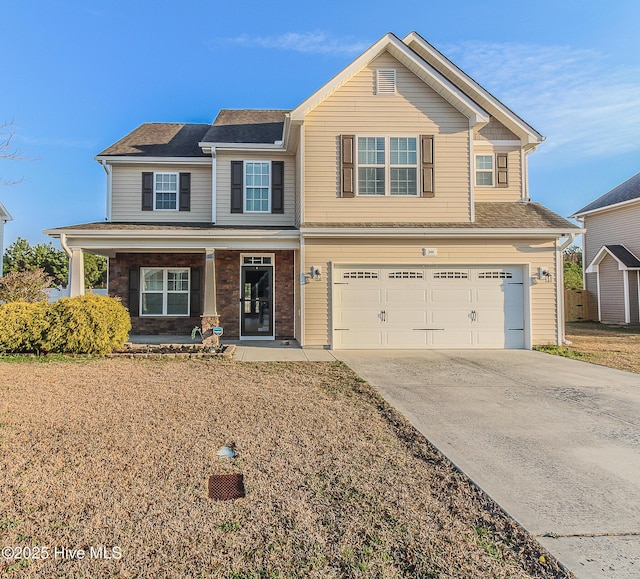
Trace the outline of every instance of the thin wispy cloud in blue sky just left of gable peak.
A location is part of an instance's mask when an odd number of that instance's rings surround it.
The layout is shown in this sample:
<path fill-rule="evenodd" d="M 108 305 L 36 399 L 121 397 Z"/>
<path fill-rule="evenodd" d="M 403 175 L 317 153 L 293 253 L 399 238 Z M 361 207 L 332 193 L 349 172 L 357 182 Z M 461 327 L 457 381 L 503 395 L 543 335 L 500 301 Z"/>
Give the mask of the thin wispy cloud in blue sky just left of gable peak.
<path fill-rule="evenodd" d="M 294 52 L 356 56 L 366 50 L 369 41 L 354 38 L 334 38 L 325 32 L 287 32 L 278 36 L 250 36 L 242 34 L 221 42 L 251 48 L 271 48 Z"/>

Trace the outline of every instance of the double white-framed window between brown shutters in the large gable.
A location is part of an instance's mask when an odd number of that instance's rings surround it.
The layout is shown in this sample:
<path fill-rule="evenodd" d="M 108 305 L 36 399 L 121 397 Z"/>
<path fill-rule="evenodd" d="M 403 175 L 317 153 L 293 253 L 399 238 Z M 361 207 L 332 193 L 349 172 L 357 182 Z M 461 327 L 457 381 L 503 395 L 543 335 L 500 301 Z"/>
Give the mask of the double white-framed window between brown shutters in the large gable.
<path fill-rule="evenodd" d="M 358 195 L 417 195 L 416 137 L 358 137 Z"/>

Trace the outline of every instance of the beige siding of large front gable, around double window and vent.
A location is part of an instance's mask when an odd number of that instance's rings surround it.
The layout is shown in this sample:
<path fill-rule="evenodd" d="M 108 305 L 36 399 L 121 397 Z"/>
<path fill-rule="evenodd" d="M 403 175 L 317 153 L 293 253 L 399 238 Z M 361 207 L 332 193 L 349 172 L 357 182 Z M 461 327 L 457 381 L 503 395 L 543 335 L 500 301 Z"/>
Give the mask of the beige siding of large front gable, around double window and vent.
<path fill-rule="evenodd" d="M 397 70 L 397 94 L 374 94 L 377 68 Z M 309 113 L 304 127 L 304 222 L 470 220 L 469 121 L 388 53 Z M 340 198 L 341 134 L 434 135 L 435 197 Z"/>

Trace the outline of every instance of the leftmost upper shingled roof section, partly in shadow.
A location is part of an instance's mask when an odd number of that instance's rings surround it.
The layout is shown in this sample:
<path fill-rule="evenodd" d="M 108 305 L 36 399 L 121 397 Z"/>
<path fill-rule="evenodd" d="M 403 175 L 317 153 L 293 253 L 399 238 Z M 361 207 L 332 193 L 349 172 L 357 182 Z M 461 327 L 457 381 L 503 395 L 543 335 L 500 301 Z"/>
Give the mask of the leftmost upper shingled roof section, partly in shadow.
<path fill-rule="evenodd" d="M 98 157 L 207 157 L 198 143 L 210 128 L 205 123 L 145 123 Z"/>

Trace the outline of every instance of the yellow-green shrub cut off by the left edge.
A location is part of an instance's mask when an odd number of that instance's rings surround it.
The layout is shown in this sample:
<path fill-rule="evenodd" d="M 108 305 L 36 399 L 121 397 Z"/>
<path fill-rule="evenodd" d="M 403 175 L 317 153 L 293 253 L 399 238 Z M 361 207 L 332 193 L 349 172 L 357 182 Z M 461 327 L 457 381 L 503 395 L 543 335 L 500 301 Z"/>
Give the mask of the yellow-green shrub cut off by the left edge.
<path fill-rule="evenodd" d="M 9 302 L 0 305 L 0 352 L 31 353 L 42 349 L 49 327 L 48 304 Z"/>

